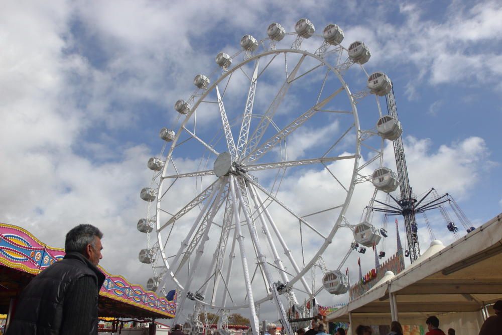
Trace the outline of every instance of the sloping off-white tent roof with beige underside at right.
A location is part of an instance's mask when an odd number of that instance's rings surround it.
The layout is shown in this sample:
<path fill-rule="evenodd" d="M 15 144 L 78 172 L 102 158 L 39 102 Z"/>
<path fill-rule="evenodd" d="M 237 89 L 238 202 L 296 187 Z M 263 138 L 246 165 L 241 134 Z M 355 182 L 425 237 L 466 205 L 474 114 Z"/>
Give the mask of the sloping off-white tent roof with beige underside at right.
<path fill-rule="evenodd" d="M 400 320 L 443 312 L 476 312 L 501 299 L 501 220 L 502 213 L 444 249 L 436 246 L 441 250 L 424 253 L 421 262 L 329 314 L 328 319 L 346 322 L 351 312 L 353 318 L 389 323 L 389 293 L 396 294 Z"/>

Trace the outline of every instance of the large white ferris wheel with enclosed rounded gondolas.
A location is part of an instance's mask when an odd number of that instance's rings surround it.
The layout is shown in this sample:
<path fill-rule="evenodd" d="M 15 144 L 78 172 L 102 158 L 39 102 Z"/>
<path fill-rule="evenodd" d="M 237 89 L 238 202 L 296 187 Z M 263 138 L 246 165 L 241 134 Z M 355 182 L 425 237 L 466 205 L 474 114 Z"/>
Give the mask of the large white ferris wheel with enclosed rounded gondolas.
<path fill-rule="evenodd" d="M 229 312 L 246 308 L 258 333 L 270 301 L 287 329 L 288 308 L 316 293 L 310 271 L 357 184 L 382 164 L 374 125 L 389 78 L 364 70 L 368 47 L 342 46 L 337 25 L 315 34 L 301 19 L 294 28 L 273 23 L 267 38 L 245 35 L 240 51 L 220 52 L 216 69 L 196 75 L 195 91 L 175 103 L 178 124 L 161 130 L 164 147 L 148 161 L 139 259 L 152 264 L 148 289 L 176 286 L 176 320 L 193 332 L 204 309 L 217 311 L 224 332 Z"/>

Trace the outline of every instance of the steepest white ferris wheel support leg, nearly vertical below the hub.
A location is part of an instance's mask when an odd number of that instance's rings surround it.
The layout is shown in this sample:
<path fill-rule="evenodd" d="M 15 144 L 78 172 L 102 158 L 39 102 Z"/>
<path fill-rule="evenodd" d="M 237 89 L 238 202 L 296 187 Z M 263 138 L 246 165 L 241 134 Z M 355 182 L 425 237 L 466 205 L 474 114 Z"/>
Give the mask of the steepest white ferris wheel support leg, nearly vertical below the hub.
<path fill-rule="evenodd" d="M 253 330 L 253 334 L 258 335 L 258 329 L 259 329 L 259 324 L 258 324 L 258 316 L 256 314 L 256 308 L 255 308 L 255 299 L 253 297 L 253 289 L 251 287 L 251 279 L 249 278 L 249 269 L 247 267 L 247 259 L 246 259 L 246 253 L 245 253 L 245 246 L 244 246 L 244 236 L 242 236 L 242 232 L 240 230 L 240 217 L 239 217 L 239 212 L 237 208 L 237 197 L 235 195 L 235 184 L 234 184 L 234 178 L 232 175 L 230 175 L 230 194 L 232 196 L 232 206 L 233 206 L 233 215 L 235 219 L 235 230 L 237 234 L 237 242 L 239 243 L 239 249 L 240 249 L 240 258 L 242 259 L 242 270 L 244 272 L 244 281 L 246 284 L 246 291 L 247 291 L 247 300 L 249 302 L 249 312 L 250 312 L 250 323 L 251 323 L 251 328 Z"/>

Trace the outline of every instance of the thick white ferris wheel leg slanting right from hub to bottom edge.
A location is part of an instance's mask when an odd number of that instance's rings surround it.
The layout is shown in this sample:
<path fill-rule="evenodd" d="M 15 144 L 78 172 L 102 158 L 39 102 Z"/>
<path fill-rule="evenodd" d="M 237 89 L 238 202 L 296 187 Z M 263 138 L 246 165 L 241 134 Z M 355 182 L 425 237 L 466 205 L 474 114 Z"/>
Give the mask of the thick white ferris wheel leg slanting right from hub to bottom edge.
<path fill-rule="evenodd" d="M 240 203 L 244 203 L 244 198 L 243 198 L 243 195 L 242 195 L 239 187 L 237 187 L 237 196 L 239 198 Z M 251 218 L 249 217 L 247 211 L 244 210 L 243 213 L 244 213 L 244 217 L 247 222 L 247 228 L 249 229 L 249 234 L 251 235 L 251 239 L 253 240 L 253 244 L 255 245 L 255 248 L 256 248 L 258 263 L 261 265 L 261 268 L 265 272 L 265 277 L 267 278 L 267 282 L 269 284 L 269 287 L 272 289 L 272 294 L 274 296 L 274 300 L 276 300 L 276 303 L 279 306 L 279 312 L 281 313 L 281 320 L 283 323 L 283 327 L 286 328 L 287 334 L 291 334 L 286 311 L 284 310 L 283 303 L 282 303 L 281 299 L 279 298 L 279 292 L 277 291 L 276 285 L 274 283 L 274 279 L 272 278 L 272 274 L 270 273 L 270 269 L 267 264 L 267 258 L 265 257 L 265 255 L 262 252 L 262 247 L 260 245 L 260 240 L 258 239 L 258 235 L 256 233 L 255 227 L 253 226 L 253 222 L 251 221 Z"/>

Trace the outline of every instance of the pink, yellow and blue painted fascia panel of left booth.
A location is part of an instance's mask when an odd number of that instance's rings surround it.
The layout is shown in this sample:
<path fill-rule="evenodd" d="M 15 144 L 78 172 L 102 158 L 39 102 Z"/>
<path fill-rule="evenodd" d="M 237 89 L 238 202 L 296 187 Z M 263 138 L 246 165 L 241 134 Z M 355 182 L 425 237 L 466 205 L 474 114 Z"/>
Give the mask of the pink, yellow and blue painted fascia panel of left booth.
<path fill-rule="evenodd" d="M 39 274 L 54 262 L 62 260 L 64 249 L 52 248 L 40 242 L 30 232 L 12 225 L 0 224 L 0 264 L 7 267 Z M 166 317 L 174 317 L 176 298 L 172 301 L 159 297 L 155 292 L 145 291 L 143 286 L 130 284 L 122 276 L 110 275 L 101 267 L 106 279 L 99 295 L 122 301 Z"/>

